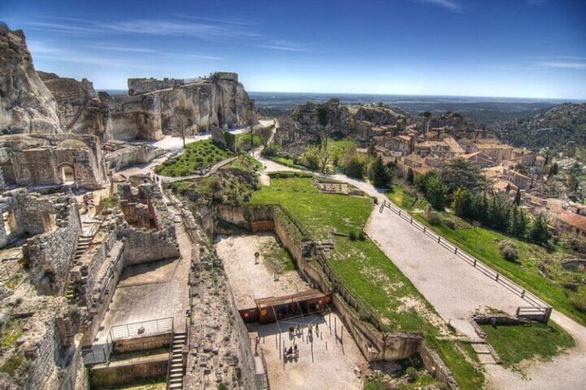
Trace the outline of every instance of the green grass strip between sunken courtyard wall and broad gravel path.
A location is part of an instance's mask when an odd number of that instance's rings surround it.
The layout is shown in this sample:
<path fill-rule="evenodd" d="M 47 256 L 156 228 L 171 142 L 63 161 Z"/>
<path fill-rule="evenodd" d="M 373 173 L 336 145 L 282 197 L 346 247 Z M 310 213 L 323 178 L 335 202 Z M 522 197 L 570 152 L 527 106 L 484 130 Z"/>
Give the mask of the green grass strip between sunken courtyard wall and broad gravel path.
<path fill-rule="evenodd" d="M 254 193 L 251 203 L 281 204 L 316 238 L 332 230 L 361 229 L 371 211 L 370 199 L 319 193 L 307 178 L 272 179 L 271 186 Z M 397 312 L 401 298 L 407 296 L 423 302 L 431 313 L 433 308 L 373 242 L 344 237 L 334 240 L 336 250 L 330 260 L 333 271 L 381 316 L 389 331 L 422 333 L 453 370 L 462 389 L 482 387 L 482 372 L 464 359 L 456 343 L 437 340 L 435 326 L 413 309 Z"/>

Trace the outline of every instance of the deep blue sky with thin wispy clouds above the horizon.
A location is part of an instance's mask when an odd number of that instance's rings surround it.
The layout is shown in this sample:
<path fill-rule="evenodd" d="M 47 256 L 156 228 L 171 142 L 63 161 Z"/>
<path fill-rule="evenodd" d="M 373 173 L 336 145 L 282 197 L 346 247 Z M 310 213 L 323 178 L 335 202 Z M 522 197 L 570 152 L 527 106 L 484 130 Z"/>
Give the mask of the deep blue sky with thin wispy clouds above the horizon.
<path fill-rule="evenodd" d="M 0 0 L 37 70 L 97 89 L 238 72 L 247 90 L 586 99 L 584 0 Z"/>

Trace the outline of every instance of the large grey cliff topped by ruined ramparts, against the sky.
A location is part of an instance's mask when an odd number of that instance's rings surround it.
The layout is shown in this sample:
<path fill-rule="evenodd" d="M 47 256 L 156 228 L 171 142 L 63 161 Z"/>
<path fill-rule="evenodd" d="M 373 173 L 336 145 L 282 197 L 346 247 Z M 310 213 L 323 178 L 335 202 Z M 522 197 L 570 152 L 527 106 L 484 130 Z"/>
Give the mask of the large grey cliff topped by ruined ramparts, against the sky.
<path fill-rule="evenodd" d="M 129 79 L 129 95 L 107 97 L 115 139 L 160 139 L 196 135 L 210 126 L 232 128 L 254 121 L 249 99 L 236 73 L 204 79 Z"/>

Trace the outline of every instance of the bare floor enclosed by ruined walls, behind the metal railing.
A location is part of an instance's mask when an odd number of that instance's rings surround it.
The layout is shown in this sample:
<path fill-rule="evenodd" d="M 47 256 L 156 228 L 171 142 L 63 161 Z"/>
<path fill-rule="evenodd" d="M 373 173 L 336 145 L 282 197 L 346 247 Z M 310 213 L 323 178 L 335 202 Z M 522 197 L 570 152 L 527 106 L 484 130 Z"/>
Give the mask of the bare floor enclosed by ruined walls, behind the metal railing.
<path fill-rule="evenodd" d="M 111 326 L 120 324 L 173 317 L 176 328 L 185 326 L 185 311 L 189 309 L 191 242 L 182 224 L 175 226 L 181 257 L 124 269 L 97 341 L 104 341 Z"/>

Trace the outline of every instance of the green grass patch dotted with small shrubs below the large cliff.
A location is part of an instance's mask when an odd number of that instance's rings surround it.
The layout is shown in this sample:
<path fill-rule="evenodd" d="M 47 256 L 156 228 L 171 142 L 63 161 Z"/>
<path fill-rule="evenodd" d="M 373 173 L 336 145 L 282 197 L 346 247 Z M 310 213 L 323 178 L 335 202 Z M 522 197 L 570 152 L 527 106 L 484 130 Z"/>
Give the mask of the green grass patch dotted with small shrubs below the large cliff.
<path fill-rule="evenodd" d="M 189 176 L 232 156 L 234 153 L 220 148 L 211 139 L 205 139 L 187 144 L 184 153 L 157 166 L 155 173 L 171 177 Z"/>

